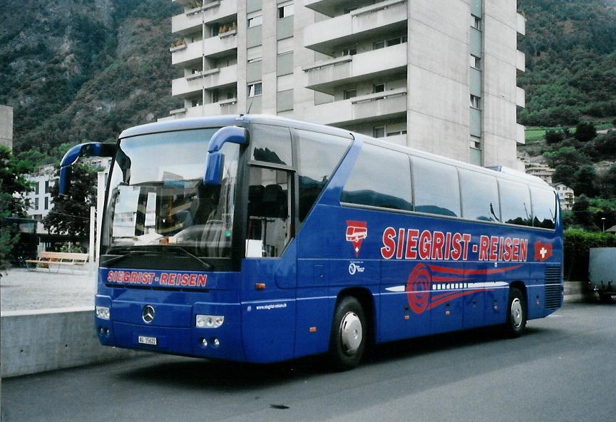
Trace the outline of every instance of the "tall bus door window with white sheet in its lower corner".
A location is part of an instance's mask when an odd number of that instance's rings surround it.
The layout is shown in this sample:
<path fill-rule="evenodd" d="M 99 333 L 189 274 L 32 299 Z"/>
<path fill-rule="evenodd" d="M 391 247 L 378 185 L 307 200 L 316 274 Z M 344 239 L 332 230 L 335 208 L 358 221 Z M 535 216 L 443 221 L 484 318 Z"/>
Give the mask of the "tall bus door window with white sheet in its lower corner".
<path fill-rule="evenodd" d="M 250 168 L 247 257 L 279 257 L 291 240 L 290 175 L 282 170 Z"/>

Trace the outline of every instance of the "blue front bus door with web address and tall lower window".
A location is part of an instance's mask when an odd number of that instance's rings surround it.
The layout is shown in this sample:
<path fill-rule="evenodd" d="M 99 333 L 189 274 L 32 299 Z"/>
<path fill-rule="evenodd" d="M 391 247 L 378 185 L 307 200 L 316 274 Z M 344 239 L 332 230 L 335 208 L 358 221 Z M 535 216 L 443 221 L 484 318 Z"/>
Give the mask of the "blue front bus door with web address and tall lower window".
<path fill-rule="evenodd" d="M 292 359 L 295 262 L 291 171 L 252 165 L 245 257 L 242 261 L 242 339 L 247 361 Z"/>

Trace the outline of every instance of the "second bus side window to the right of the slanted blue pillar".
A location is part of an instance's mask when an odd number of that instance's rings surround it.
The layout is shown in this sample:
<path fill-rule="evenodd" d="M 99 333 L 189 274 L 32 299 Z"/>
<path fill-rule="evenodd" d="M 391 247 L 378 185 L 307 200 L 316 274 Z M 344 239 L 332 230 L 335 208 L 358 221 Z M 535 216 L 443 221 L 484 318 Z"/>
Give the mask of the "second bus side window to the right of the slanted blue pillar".
<path fill-rule="evenodd" d="M 458 170 L 452 165 L 413 157 L 415 210 L 460 217 Z"/>

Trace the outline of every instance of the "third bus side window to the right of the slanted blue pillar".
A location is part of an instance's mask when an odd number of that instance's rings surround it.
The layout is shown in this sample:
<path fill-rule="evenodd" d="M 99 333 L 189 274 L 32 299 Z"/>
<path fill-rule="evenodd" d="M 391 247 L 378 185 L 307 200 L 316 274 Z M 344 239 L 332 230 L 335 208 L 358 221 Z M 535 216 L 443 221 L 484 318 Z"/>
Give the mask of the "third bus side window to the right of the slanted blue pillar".
<path fill-rule="evenodd" d="M 501 221 L 496 177 L 460 169 L 462 216 L 472 220 Z"/>

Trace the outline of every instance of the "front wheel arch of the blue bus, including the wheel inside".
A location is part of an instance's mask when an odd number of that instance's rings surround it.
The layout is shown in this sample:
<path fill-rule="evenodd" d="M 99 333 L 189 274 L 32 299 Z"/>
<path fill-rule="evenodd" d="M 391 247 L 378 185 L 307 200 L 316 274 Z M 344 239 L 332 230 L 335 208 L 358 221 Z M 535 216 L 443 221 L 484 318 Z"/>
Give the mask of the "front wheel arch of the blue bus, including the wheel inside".
<path fill-rule="evenodd" d="M 374 343 L 374 301 L 366 289 L 345 289 L 338 294 L 332 331 L 329 338 L 329 360 L 334 369 L 353 369 L 364 356 L 366 347 Z"/>

